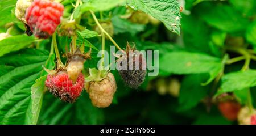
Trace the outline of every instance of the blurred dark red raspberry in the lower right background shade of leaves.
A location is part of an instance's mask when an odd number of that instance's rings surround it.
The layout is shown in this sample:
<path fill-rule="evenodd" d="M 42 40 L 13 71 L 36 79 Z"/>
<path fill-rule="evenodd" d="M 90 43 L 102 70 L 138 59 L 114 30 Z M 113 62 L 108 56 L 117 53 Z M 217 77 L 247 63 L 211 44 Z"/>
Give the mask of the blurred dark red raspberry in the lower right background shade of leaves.
<path fill-rule="evenodd" d="M 218 104 L 218 109 L 222 115 L 230 121 L 237 119 L 237 114 L 241 109 L 241 105 L 234 101 L 225 101 Z"/>

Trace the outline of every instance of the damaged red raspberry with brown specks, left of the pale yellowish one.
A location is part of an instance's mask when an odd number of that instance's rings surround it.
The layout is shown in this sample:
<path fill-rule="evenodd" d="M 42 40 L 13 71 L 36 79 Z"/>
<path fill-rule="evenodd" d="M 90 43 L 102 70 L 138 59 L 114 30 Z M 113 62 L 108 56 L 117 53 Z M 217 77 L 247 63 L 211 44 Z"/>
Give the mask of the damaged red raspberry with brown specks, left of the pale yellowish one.
<path fill-rule="evenodd" d="M 84 88 L 84 75 L 79 74 L 75 84 L 68 78 L 67 71 L 59 71 L 54 75 L 48 74 L 46 79 L 48 90 L 59 97 L 61 100 L 69 103 L 75 102 Z"/>

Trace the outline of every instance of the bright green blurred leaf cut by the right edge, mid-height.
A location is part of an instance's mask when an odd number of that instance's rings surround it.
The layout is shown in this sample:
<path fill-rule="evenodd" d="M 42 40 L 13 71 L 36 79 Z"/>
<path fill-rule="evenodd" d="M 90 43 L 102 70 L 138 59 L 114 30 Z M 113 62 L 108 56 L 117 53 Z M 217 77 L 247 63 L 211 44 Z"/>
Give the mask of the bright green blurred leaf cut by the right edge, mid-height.
<path fill-rule="evenodd" d="M 222 77 L 221 90 L 218 93 L 244 90 L 256 86 L 256 70 L 237 71 Z"/>

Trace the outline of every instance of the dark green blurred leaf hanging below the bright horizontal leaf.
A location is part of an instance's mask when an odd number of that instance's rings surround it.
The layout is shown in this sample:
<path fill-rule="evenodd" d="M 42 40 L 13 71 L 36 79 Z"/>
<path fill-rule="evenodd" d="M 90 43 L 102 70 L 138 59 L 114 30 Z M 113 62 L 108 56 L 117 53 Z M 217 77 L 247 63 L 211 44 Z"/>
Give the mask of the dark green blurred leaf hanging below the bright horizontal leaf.
<path fill-rule="evenodd" d="M 180 88 L 180 110 L 185 111 L 195 107 L 203 97 L 207 95 L 209 87 L 201 86 L 204 82 L 204 74 L 187 75 L 183 79 Z"/>

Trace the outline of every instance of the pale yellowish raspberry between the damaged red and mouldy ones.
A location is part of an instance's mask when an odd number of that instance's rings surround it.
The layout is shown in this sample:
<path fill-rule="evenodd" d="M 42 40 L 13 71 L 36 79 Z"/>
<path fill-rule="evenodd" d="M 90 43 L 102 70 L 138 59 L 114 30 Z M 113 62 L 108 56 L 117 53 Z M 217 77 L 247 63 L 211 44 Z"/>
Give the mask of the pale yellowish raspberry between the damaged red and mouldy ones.
<path fill-rule="evenodd" d="M 117 90 L 117 84 L 112 73 L 108 73 L 105 79 L 100 82 L 86 82 L 85 90 L 89 93 L 92 104 L 98 108 L 109 107 L 113 95 Z"/>

